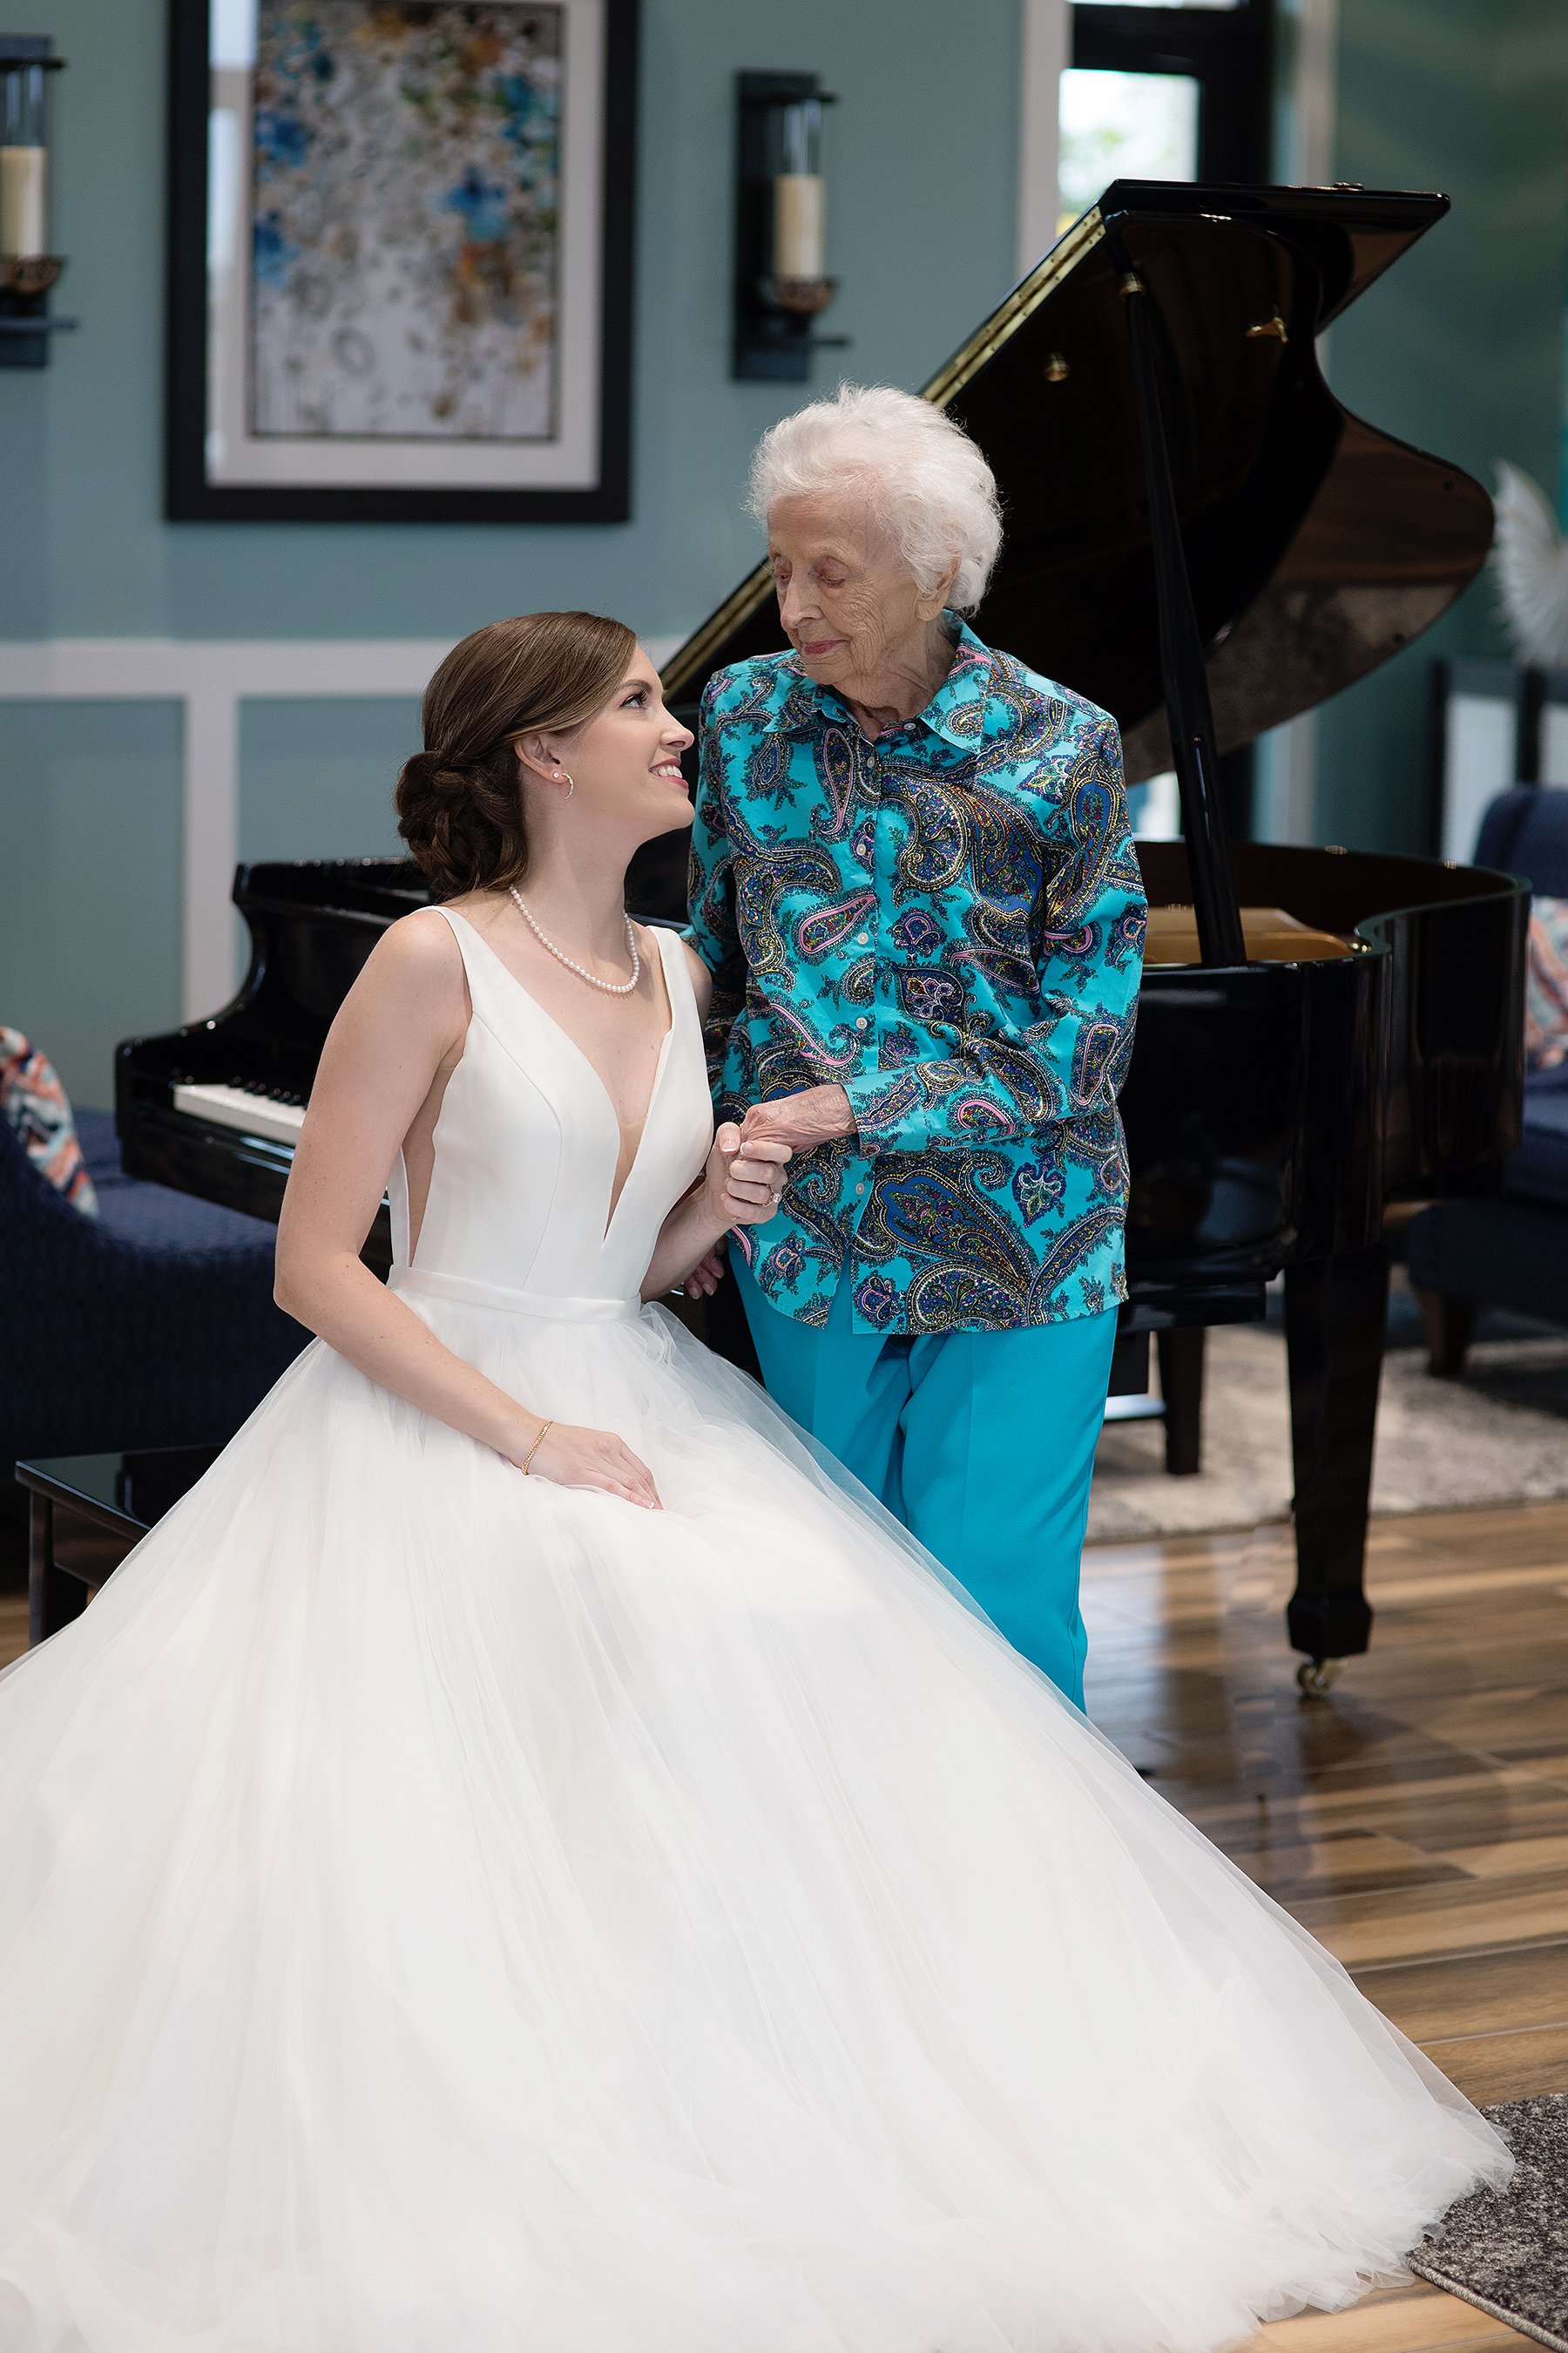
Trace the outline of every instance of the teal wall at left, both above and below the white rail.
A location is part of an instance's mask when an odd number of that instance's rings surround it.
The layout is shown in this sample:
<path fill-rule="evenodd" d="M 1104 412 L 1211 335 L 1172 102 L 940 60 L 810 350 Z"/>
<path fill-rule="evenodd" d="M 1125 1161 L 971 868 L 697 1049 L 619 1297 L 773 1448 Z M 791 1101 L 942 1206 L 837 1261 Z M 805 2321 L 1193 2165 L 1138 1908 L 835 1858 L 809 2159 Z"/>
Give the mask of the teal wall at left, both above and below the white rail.
<path fill-rule="evenodd" d="M 809 66 L 839 92 L 827 261 L 842 294 L 825 327 L 853 348 L 823 355 L 818 386 L 919 384 L 1013 280 L 1018 0 L 642 0 L 632 520 L 169 525 L 165 0 L 28 0 L 26 28 L 68 59 L 56 306 L 82 325 L 49 369 L 0 372 L 0 638 L 458 638 L 541 605 L 684 635 L 755 560 L 745 464 L 802 398 L 729 379 L 736 68 Z M 179 1014 L 167 729 L 162 711 L 0 704 L 0 1021 L 26 1009 L 82 1101 L 108 1101 L 115 1038 Z M 414 729 L 404 701 L 247 706 L 242 852 L 388 847 Z M 56 807 L 87 758 L 89 805 L 113 812 L 115 922 L 96 882 L 73 892 L 85 805 Z"/>

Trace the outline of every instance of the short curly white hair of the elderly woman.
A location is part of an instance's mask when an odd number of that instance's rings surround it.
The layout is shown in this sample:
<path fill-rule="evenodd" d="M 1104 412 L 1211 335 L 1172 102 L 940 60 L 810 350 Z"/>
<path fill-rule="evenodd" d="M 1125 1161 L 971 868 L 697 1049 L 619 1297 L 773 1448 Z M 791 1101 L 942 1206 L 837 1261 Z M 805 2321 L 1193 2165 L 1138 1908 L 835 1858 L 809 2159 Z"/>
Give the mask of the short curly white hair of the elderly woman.
<path fill-rule="evenodd" d="M 929 400 L 889 384 L 842 384 L 757 442 L 748 508 L 766 527 L 778 499 L 860 489 L 924 591 L 954 558 L 947 602 L 973 612 L 1001 551 L 997 478 Z"/>

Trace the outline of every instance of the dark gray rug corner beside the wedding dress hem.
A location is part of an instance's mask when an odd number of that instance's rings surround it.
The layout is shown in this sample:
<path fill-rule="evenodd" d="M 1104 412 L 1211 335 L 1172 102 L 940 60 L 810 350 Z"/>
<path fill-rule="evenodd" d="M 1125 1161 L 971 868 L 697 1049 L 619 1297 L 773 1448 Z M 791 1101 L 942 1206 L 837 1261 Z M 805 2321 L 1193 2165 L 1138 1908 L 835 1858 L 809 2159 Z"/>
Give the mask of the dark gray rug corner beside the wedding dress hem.
<path fill-rule="evenodd" d="M 1519 2172 L 1476 2191 L 1408 2259 L 1465 2304 L 1568 2353 L 1568 2092 L 1514 2099 L 1486 2115 L 1507 2132 Z"/>

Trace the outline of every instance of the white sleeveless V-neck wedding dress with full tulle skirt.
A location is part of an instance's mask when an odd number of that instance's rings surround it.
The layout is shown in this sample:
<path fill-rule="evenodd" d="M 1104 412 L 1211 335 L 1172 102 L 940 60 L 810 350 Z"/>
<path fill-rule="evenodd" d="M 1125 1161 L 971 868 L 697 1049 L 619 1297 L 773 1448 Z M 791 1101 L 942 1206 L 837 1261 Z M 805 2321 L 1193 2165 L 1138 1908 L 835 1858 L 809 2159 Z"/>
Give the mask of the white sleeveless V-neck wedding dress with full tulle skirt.
<path fill-rule="evenodd" d="M 1509 2158 L 639 1278 L 585 1056 L 473 1024 L 393 1285 L 665 1504 L 320 1341 L 0 1678 L 0 2353 L 1199 2353 Z M 1051 1400 L 1039 1400 L 1048 1417 Z"/>

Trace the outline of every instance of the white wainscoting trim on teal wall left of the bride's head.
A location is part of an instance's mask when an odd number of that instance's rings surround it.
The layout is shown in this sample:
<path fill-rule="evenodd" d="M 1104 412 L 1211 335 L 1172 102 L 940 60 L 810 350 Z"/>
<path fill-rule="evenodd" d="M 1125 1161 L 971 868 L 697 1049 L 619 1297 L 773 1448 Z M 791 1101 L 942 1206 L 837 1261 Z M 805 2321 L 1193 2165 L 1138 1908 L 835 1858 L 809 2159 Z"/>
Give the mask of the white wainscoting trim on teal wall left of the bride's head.
<path fill-rule="evenodd" d="M 679 638 L 644 640 L 668 661 Z M 235 988 L 228 892 L 240 856 L 240 706 L 266 696 L 348 701 L 423 694 L 444 638 L 45 638 L 0 642 L 0 701 L 176 701 L 186 711 L 181 1007 L 216 1012 Z"/>

